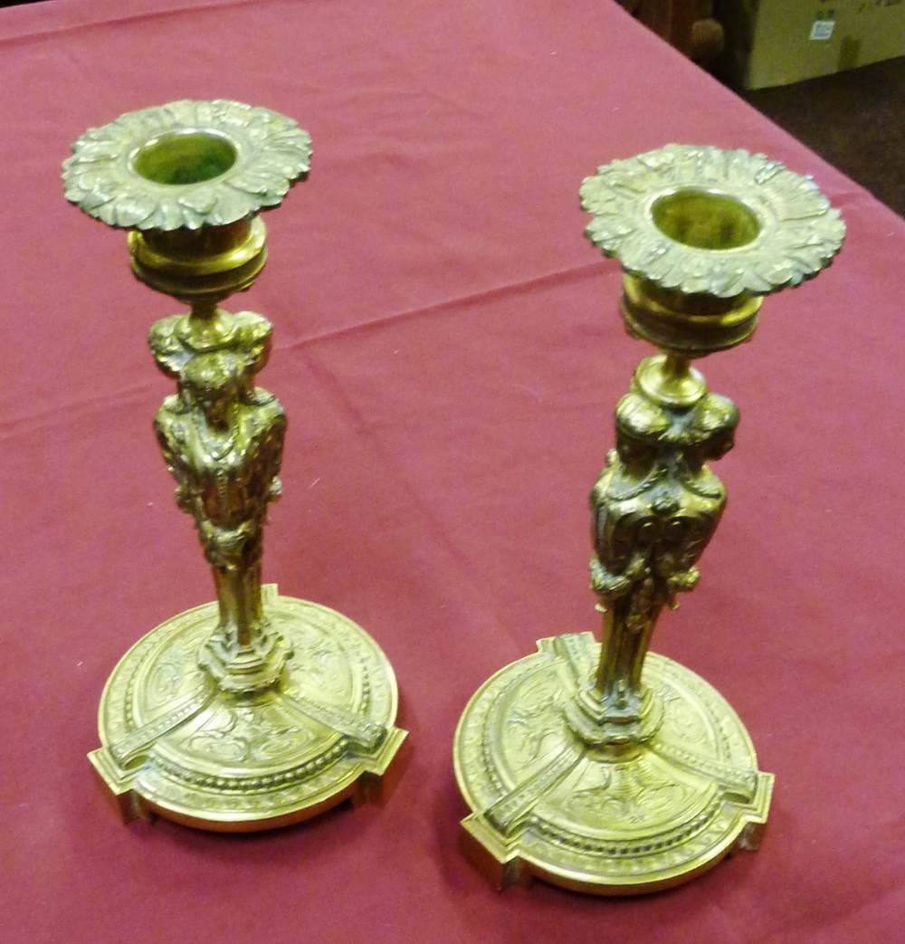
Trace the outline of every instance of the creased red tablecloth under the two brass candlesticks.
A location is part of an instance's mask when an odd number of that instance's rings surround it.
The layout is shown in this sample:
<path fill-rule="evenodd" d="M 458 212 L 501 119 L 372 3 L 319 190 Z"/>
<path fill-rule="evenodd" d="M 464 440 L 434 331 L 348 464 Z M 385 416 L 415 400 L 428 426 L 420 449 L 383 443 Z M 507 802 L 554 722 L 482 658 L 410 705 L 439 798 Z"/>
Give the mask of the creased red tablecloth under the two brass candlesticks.
<path fill-rule="evenodd" d="M 905 223 L 605 0 L 54 0 L 0 10 L 0 936 L 11 941 L 892 941 L 905 912 L 897 628 Z M 274 834 L 124 826 L 85 754 L 120 656 L 212 595 L 150 420 L 177 310 L 69 207 L 89 126 L 176 98 L 298 119 L 310 180 L 232 307 L 290 416 L 265 578 L 391 658 L 411 764 L 383 808 Z M 654 648 L 744 718 L 763 848 L 629 901 L 498 894 L 457 849 L 451 744 L 537 638 L 595 629 L 586 496 L 647 353 L 578 185 L 664 143 L 812 173 L 843 254 L 703 362 L 742 412 L 703 579 Z"/>

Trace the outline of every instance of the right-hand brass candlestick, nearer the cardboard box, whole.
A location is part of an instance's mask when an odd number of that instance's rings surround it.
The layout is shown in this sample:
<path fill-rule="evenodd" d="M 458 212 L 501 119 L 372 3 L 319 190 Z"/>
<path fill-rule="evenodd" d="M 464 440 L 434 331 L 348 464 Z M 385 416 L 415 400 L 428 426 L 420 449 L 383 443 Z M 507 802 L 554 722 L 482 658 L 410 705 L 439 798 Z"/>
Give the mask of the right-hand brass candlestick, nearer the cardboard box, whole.
<path fill-rule="evenodd" d="M 845 228 L 810 179 L 710 147 L 616 160 L 581 199 L 588 237 L 622 263 L 629 333 L 661 349 L 616 407 L 616 447 L 591 494 L 603 642 L 542 639 L 497 672 L 461 717 L 455 764 L 474 811 L 464 849 L 497 885 L 536 875 L 621 895 L 756 848 L 766 821 L 773 776 L 738 716 L 647 649 L 662 609 L 696 585 L 726 503 L 706 463 L 738 422 L 689 362 L 746 341 L 763 295 L 815 276 Z"/>

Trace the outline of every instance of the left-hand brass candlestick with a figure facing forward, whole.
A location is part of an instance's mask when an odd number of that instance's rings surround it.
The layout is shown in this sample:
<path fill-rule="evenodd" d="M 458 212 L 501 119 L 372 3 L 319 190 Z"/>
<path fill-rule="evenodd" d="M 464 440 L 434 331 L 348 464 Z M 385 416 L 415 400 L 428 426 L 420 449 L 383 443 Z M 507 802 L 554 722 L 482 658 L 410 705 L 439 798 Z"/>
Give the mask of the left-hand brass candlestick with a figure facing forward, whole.
<path fill-rule="evenodd" d="M 286 417 L 255 386 L 271 326 L 219 305 L 266 260 L 258 213 L 307 177 L 310 137 L 274 111 L 174 102 L 93 128 L 63 164 L 67 198 L 126 228 L 132 271 L 191 307 L 149 344 L 176 379 L 154 421 L 217 601 L 174 616 L 113 670 L 89 755 L 125 818 L 247 832 L 376 797 L 405 732 L 393 669 L 345 616 L 261 585 Z"/>

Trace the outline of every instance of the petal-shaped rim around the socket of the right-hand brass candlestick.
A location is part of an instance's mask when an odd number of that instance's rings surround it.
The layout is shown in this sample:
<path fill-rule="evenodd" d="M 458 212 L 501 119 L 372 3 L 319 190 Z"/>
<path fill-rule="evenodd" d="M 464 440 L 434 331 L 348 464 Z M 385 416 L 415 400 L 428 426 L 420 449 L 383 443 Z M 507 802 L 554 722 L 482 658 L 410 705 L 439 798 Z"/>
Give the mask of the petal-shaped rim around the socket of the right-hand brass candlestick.
<path fill-rule="evenodd" d="M 654 205 L 679 193 L 742 204 L 753 235 L 730 248 L 679 242 L 657 224 Z M 839 211 L 810 177 L 763 154 L 667 144 L 600 167 L 581 184 L 594 214 L 585 235 L 631 275 L 685 294 L 768 295 L 813 278 L 845 238 Z"/>

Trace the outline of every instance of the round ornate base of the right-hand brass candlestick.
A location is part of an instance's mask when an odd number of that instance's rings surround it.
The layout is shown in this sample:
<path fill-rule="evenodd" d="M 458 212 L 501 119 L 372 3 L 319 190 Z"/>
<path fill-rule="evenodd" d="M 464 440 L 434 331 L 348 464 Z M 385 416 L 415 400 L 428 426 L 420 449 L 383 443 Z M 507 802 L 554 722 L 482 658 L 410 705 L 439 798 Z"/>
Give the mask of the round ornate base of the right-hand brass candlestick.
<path fill-rule="evenodd" d="M 733 849 L 756 849 L 773 775 L 729 703 L 690 669 L 648 653 L 662 721 L 634 744 L 594 745 L 568 710 L 593 678 L 590 632 L 542 639 L 461 716 L 456 777 L 474 811 L 465 854 L 498 887 L 629 895 L 680 885 Z"/>

